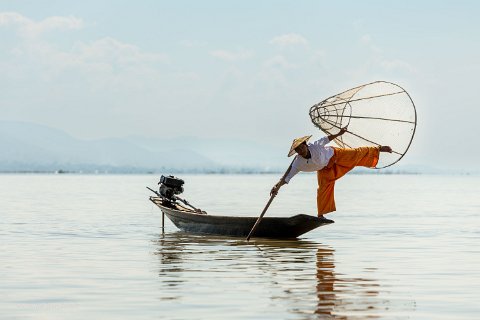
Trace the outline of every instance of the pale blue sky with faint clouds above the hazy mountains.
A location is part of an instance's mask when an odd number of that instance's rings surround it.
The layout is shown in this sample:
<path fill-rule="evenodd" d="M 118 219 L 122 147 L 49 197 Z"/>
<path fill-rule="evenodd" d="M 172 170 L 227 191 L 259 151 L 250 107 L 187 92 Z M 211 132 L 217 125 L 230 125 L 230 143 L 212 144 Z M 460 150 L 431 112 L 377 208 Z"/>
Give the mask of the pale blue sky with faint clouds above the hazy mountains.
<path fill-rule="evenodd" d="M 0 120 L 288 149 L 322 135 L 313 104 L 385 80 L 417 108 L 402 161 L 478 169 L 479 14 L 477 1 L 0 0 Z"/>

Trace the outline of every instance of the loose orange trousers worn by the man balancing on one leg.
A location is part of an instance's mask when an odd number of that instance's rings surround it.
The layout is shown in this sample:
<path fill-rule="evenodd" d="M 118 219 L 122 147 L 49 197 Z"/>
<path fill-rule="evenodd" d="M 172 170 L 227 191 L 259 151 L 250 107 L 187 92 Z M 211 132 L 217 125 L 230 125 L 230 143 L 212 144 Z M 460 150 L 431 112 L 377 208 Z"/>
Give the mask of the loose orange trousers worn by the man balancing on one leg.
<path fill-rule="evenodd" d="M 378 147 L 360 147 L 355 149 L 333 148 L 334 154 L 328 165 L 317 171 L 317 209 L 318 216 L 335 211 L 335 181 L 343 177 L 356 166 L 375 167 L 380 149 Z"/>

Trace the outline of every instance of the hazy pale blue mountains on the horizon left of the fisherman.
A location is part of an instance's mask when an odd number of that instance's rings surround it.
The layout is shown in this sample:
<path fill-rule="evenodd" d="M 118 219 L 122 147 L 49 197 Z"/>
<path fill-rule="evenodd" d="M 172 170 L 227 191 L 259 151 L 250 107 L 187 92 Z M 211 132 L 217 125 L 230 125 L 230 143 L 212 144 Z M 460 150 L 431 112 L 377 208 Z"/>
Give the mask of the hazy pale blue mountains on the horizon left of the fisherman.
<path fill-rule="evenodd" d="M 80 140 L 42 125 L 0 121 L 0 171 L 265 171 L 284 150 L 227 139 Z M 283 158 L 283 157 L 282 157 Z M 279 161 L 280 160 L 280 161 Z M 288 165 L 288 164 L 287 164 Z"/>

